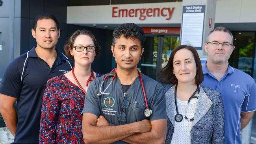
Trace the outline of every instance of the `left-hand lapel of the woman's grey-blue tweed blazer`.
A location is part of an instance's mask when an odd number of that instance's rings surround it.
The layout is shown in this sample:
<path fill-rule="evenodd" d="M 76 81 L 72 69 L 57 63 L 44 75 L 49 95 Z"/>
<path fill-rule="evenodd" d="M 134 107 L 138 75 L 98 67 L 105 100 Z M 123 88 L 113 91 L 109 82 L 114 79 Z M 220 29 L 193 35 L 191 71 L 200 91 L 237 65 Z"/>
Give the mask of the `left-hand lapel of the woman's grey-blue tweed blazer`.
<path fill-rule="evenodd" d="M 175 124 L 174 122 L 174 111 L 175 109 L 175 103 L 174 103 L 174 89 L 173 86 L 165 92 L 165 99 L 166 99 L 166 112 L 167 117 L 170 119 L 171 123 Z"/>

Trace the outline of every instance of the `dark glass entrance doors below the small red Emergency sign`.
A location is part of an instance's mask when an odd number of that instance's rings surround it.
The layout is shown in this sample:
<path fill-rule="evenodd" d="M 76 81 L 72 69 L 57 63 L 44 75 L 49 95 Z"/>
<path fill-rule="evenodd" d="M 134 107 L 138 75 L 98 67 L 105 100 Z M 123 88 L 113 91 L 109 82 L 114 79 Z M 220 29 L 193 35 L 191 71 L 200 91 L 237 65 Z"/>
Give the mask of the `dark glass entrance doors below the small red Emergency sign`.
<path fill-rule="evenodd" d="M 141 57 L 141 72 L 152 79 L 156 78 L 158 70 L 163 68 L 171 55 L 171 51 L 180 44 L 180 36 L 147 36 L 144 53 Z"/>

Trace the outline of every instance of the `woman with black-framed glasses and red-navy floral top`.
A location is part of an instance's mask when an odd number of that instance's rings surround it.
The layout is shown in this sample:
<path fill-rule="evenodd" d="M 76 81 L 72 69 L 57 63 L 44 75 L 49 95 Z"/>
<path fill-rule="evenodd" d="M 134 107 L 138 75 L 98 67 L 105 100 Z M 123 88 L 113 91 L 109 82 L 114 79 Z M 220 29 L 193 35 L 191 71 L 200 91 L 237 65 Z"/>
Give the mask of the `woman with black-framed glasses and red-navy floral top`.
<path fill-rule="evenodd" d="M 41 110 L 39 143 L 83 144 L 82 115 L 85 94 L 91 81 L 102 74 L 91 64 L 100 54 L 95 36 L 87 30 L 75 31 L 64 46 L 74 59 L 74 68 L 48 80 Z"/>

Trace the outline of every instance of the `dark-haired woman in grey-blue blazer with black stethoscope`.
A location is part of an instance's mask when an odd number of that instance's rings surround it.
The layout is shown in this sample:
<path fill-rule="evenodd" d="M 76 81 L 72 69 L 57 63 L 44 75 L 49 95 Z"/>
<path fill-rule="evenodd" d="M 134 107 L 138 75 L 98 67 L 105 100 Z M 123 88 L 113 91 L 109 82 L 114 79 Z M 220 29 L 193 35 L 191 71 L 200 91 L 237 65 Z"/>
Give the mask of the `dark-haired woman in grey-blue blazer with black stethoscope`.
<path fill-rule="evenodd" d="M 224 109 L 221 94 L 202 83 L 197 51 L 181 45 L 173 50 L 158 76 L 167 105 L 166 144 L 224 144 Z"/>

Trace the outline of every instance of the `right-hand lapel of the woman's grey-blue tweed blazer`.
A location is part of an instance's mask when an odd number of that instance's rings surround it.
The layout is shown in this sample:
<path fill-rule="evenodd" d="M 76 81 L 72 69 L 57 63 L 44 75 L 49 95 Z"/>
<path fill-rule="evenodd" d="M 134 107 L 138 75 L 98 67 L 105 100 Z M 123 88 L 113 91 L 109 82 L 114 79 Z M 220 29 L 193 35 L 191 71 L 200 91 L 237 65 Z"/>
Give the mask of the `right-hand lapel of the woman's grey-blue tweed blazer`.
<path fill-rule="evenodd" d="M 198 101 L 197 101 L 197 108 L 195 110 L 194 120 L 192 122 L 191 129 L 204 116 L 204 114 L 206 114 L 209 111 L 212 104 L 213 103 L 211 102 L 210 98 L 208 98 L 208 96 L 204 92 L 204 89 L 201 87 L 200 88 L 200 93 L 199 93 L 199 96 L 198 96 Z"/>

